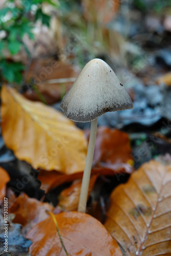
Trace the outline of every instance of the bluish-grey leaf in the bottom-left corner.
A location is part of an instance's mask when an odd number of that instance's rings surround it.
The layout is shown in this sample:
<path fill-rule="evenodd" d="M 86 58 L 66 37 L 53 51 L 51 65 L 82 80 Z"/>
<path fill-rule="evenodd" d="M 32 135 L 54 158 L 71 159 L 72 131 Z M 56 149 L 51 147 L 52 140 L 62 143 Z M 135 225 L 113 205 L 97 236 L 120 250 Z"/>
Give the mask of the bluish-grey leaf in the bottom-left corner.
<path fill-rule="evenodd" d="M 0 225 L 0 240 L 1 244 L 0 249 L 1 251 L 4 251 L 4 243 L 5 243 L 5 237 L 4 233 L 5 230 L 8 229 L 8 251 L 11 252 L 11 254 L 18 255 L 18 256 L 30 256 L 30 253 L 28 253 L 28 248 L 31 245 L 31 241 L 29 239 L 26 239 L 23 237 L 21 231 L 22 231 L 22 225 L 20 224 L 14 224 L 12 223 L 13 215 L 8 215 L 8 225 Z M 0 221 L 1 223 L 4 222 L 4 219 L 2 215 L 0 215 Z M 6 228 L 6 229 L 5 229 Z"/>

